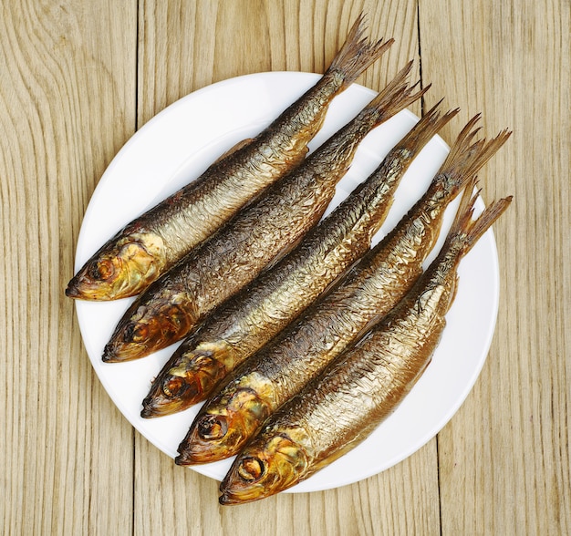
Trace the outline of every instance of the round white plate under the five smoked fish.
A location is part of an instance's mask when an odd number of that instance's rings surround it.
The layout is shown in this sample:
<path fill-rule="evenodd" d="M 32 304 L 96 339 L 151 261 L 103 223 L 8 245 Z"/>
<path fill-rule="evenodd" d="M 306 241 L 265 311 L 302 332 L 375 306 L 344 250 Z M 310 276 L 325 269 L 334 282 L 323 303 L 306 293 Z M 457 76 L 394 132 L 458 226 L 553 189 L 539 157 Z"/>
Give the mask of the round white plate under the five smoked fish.
<path fill-rule="evenodd" d="M 76 268 L 83 265 L 109 236 L 153 204 L 198 177 L 226 149 L 256 134 L 285 109 L 318 76 L 308 73 L 260 73 L 213 84 L 164 109 L 119 151 L 99 181 L 79 233 Z M 352 85 L 337 97 L 323 129 L 310 145 L 315 149 L 354 117 L 375 93 Z M 364 180 L 389 149 L 417 121 L 400 112 L 360 145 L 354 163 L 338 185 L 332 206 Z M 435 137 L 410 166 L 397 192 L 389 219 L 376 242 L 400 220 L 425 191 L 448 153 Z M 449 207 L 441 233 L 450 227 L 457 206 Z M 482 209 L 483 203 L 479 208 Z M 440 248 L 437 244 L 436 250 Z M 427 263 L 431 260 L 427 261 Z M 171 355 L 171 346 L 129 363 L 101 361 L 103 346 L 131 299 L 109 303 L 78 301 L 78 320 L 93 367 L 122 414 L 157 448 L 174 458 L 198 407 L 155 419 L 140 417 L 140 403 Z M 456 301 L 448 314 L 431 366 L 410 395 L 358 448 L 291 491 L 335 488 L 375 475 L 410 456 L 433 438 L 471 390 L 491 344 L 498 307 L 498 262 L 493 233 L 487 232 L 462 261 Z M 231 460 L 192 468 L 223 479 Z"/>

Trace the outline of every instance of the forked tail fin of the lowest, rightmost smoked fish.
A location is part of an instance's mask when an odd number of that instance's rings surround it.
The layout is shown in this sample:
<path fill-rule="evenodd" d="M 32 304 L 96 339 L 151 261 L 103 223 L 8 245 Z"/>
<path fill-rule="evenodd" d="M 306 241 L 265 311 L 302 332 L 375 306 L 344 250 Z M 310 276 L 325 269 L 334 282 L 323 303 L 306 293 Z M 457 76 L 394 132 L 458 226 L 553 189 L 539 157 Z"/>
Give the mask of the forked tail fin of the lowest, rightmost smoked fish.
<path fill-rule="evenodd" d="M 462 194 L 460 206 L 447 238 L 449 247 L 453 243 L 460 242 L 460 257 L 472 249 L 483 233 L 488 231 L 493 222 L 504 213 L 513 199 L 513 196 L 510 195 L 495 201 L 486 207 L 477 218 L 473 219 L 474 204 L 480 195 L 480 190 L 474 191 L 475 184 L 476 180 L 472 179 Z"/>

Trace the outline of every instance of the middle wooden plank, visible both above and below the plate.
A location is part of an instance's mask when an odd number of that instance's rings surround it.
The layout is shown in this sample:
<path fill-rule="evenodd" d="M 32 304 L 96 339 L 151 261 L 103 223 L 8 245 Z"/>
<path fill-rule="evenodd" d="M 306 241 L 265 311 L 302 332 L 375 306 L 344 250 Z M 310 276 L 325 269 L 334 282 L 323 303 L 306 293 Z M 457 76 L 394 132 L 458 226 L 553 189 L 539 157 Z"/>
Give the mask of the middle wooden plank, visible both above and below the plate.
<path fill-rule="evenodd" d="M 192 90 L 268 70 L 323 72 L 364 10 L 371 36 L 397 42 L 359 81 L 379 90 L 418 59 L 416 2 L 241 0 L 140 4 L 139 124 Z M 418 75 L 418 67 L 417 67 Z M 414 108 L 420 113 L 420 106 Z M 394 534 L 440 532 L 436 442 L 338 490 L 220 507 L 217 483 L 178 468 L 136 434 L 135 533 Z"/>

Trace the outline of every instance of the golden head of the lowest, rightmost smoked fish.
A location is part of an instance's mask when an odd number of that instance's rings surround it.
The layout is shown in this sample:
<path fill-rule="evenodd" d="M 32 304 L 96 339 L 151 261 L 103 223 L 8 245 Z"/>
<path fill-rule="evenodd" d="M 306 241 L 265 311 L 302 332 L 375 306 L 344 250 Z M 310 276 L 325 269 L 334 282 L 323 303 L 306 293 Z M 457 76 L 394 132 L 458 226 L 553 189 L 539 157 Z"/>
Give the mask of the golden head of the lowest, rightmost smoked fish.
<path fill-rule="evenodd" d="M 254 438 L 223 479 L 220 503 L 241 504 L 264 499 L 304 479 L 309 458 L 302 443 L 295 439 L 297 431 L 265 428 Z"/>

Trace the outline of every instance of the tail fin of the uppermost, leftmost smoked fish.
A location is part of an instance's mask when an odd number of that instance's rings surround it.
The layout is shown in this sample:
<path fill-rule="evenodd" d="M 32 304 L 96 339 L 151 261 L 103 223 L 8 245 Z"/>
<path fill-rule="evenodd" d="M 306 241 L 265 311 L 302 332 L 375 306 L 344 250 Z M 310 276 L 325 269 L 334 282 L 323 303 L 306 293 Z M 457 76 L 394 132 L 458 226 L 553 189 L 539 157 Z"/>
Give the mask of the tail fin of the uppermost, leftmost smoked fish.
<path fill-rule="evenodd" d="M 376 43 L 371 43 L 369 39 L 363 38 L 364 23 L 365 15 L 361 13 L 351 26 L 345 43 L 327 69 L 328 74 L 343 77 L 343 87 L 345 88 L 353 83 L 394 43 L 394 39 L 384 42 L 383 39 L 379 39 Z"/>

